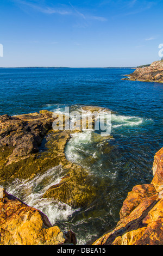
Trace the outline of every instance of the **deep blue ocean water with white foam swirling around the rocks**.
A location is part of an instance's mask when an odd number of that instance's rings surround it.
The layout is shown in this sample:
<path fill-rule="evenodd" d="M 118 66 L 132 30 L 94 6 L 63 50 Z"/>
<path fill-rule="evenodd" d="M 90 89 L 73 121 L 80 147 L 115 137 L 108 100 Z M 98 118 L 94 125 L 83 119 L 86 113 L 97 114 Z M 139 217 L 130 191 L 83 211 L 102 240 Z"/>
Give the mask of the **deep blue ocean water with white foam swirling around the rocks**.
<path fill-rule="evenodd" d="M 0 114 L 17 115 L 41 109 L 62 112 L 95 105 L 111 109 L 112 139 L 93 131 L 72 136 L 65 148 L 68 160 L 94 175 L 101 197 L 89 208 L 72 209 L 41 199 L 62 178 L 61 166 L 32 181 L 15 180 L 8 193 L 43 211 L 52 224 L 77 234 L 78 244 L 102 235 L 119 220 L 129 191 L 152 181 L 155 153 L 162 147 L 163 84 L 122 81 L 132 69 L 0 69 Z M 48 177 L 48 179 L 47 179 Z"/>

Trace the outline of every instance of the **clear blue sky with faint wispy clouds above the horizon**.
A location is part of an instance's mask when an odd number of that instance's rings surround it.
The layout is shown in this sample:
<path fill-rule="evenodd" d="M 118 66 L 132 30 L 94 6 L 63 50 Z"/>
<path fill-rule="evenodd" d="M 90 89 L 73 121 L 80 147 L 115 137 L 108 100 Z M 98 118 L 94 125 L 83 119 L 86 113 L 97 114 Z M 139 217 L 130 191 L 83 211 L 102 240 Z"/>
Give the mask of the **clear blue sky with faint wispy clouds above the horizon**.
<path fill-rule="evenodd" d="M 0 67 L 137 66 L 160 60 L 162 0 L 1 0 L 0 21 Z"/>

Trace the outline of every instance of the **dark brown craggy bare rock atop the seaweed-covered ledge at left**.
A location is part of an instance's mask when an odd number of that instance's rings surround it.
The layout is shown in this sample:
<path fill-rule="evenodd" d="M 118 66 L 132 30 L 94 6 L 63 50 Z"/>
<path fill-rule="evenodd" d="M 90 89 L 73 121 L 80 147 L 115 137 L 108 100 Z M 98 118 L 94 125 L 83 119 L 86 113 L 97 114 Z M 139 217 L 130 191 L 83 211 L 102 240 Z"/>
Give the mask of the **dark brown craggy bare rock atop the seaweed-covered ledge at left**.
<path fill-rule="evenodd" d="M 27 156 L 39 151 L 46 133 L 52 129 L 50 112 L 0 117 L 0 147 L 13 147 L 11 156 Z"/>

